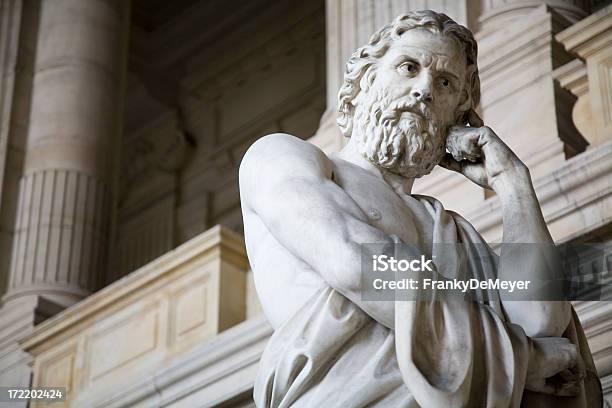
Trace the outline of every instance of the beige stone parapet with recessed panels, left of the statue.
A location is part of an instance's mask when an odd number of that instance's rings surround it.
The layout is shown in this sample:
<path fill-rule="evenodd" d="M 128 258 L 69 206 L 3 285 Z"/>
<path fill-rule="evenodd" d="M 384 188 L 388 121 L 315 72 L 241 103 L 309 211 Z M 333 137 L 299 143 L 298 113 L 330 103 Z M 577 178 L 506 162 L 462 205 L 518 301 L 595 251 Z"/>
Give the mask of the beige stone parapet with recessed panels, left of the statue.
<path fill-rule="evenodd" d="M 240 235 L 206 231 L 37 326 L 21 341 L 32 385 L 94 406 L 243 321 L 247 270 Z"/>

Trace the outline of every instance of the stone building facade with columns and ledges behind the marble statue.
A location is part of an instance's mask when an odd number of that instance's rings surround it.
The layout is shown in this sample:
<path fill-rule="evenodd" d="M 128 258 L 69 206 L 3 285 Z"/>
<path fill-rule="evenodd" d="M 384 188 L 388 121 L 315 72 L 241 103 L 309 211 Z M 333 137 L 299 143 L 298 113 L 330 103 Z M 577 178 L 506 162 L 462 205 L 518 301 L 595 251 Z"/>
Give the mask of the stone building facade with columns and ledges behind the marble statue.
<path fill-rule="evenodd" d="M 339 150 L 346 60 L 417 9 L 475 33 L 479 112 L 555 241 L 612 254 L 609 2 L 3 0 L 0 385 L 66 387 L 75 407 L 252 406 L 272 329 L 242 155 L 273 132 Z M 493 194 L 441 168 L 415 191 L 501 241 Z M 596 261 L 612 282 L 612 255 Z M 612 303 L 574 307 L 612 401 Z"/>

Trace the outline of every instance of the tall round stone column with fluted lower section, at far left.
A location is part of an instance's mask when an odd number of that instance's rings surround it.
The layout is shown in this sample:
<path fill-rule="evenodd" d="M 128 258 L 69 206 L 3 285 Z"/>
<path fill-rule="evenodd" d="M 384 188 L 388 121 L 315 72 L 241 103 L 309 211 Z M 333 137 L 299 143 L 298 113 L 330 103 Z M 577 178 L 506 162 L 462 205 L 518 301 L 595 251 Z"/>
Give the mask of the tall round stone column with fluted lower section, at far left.
<path fill-rule="evenodd" d="M 33 94 L 4 302 L 68 306 L 105 271 L 128 2 L 41 3 Z"/>

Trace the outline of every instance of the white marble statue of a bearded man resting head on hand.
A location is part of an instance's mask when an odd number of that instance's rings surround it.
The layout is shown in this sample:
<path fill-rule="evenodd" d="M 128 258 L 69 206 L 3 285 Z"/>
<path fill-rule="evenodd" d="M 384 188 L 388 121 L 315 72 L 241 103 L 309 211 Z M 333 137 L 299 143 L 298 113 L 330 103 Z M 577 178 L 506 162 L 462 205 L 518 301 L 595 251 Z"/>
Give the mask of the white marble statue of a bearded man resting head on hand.
<path fill-rule="evenodd" d="M 569 302 L 362 299 L 362 243 L 409 242 L 429 257 L 435 243 L 486 245 L 460 215 L 411 194 L 436 165 L 495 191 L 504 243 L 552 243 L 527 167 L 475 112 L 476 57 L 472 33 L 446 15 L 401 15 L 347 63 L 342 151 L 272 134 L 246 153 L 246 245 L 275 329 L 259 408 L 601 406 Z M 486 262 L 507 278 L 555 273 L 503 253 Z"/>

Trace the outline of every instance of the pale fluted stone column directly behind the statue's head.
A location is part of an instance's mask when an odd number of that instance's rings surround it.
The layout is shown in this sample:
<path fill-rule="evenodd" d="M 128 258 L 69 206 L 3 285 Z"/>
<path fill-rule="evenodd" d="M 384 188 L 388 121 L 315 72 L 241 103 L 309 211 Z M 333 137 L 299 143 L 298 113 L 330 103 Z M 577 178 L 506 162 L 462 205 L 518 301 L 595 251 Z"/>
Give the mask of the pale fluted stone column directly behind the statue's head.
<path fill-rule="evenodd" d="M 344 145 L 344 137 L 336 126 L 338 90 L 346 61 L 368 42 L 374 31 L 411 10 L 435 10 L 467 24 L 466 4 L 467 0 L 326 0 L 327 109 L 310 141 L 328 153 Z"/>

